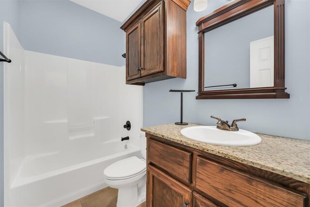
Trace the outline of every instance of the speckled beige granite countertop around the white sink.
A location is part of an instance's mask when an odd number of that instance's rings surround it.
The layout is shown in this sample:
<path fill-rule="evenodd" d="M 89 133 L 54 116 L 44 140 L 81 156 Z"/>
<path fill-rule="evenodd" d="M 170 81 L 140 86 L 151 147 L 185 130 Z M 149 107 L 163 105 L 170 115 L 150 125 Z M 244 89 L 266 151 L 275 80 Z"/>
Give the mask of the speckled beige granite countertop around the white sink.
<path fill-rule="evenodd" d="M 310 184 L 310 141 L 256 133 L 262 138 L 260 144 L 220 146 L 190 140 L 180 133 L 193 126 L 201 125 L 167 124 L 143 127 L 141 131 Z"/>

